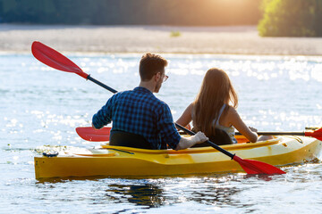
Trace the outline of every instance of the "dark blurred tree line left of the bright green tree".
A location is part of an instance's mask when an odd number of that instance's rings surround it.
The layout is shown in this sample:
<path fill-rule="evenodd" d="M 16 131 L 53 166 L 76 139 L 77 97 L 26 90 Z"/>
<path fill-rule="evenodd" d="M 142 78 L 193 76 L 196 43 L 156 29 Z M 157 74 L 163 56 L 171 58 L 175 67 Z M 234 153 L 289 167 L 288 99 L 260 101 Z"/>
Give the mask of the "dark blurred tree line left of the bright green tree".
<path fill-rule="evenodd" d="M 91 25 L 254 25 L 258 0 L 0 0 L 0 22 Z"/>

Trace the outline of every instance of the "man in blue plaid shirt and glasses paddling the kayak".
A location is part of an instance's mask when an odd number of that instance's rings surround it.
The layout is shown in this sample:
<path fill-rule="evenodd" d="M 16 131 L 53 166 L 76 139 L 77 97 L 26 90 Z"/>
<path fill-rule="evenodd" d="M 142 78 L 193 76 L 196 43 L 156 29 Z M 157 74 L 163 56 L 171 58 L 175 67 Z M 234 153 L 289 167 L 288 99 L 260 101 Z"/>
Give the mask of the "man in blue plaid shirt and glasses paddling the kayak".
<path fill-rule="evenodd" d="M 140 86 L 113 95 L 93 116 L 92 127 L 103 128 L 113 121 L 112 134 L 121 132 L 121 136 L 126 133 L 142 136 L 151 149 L 165 149 L 168 145 L 174 150 L 182 150 L 207 141 L 208 137 L 201 132 L 191 137 L 180 136 L 169 106 L 153 95 L 168 78 L 166 65 L 161 56 L 144 54 L 140 60 Z"/>

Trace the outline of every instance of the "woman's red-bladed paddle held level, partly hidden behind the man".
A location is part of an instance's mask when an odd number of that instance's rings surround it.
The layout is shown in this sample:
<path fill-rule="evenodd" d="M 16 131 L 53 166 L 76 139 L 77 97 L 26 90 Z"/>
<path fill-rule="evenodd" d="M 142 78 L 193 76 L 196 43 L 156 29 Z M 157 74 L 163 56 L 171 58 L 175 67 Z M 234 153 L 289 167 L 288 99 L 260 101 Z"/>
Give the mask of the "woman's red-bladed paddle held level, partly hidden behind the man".
<path fill-rule="evenodd" d="M 94 129 L 91 127 L 76 128 L 77 134 L 87 141 L 109 141 L 109 131 L 111 128 Z M 242 134 L 237 132 L 237 136 Z M 311 136 L 322 141 L 322 128 L 307 132 L 258 132 L 258 136 Z"/>

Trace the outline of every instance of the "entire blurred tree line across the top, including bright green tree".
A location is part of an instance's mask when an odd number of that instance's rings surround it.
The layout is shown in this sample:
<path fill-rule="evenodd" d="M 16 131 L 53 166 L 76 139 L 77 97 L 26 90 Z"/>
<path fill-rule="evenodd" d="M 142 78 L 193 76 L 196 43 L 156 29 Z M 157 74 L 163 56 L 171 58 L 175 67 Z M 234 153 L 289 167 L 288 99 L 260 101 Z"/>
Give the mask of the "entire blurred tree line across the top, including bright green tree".
<path fill-rule="evenodd" d="M 0 0 L 0 23 L 258 25 L 263 37 L 322 37 L 322 0 Z"/>

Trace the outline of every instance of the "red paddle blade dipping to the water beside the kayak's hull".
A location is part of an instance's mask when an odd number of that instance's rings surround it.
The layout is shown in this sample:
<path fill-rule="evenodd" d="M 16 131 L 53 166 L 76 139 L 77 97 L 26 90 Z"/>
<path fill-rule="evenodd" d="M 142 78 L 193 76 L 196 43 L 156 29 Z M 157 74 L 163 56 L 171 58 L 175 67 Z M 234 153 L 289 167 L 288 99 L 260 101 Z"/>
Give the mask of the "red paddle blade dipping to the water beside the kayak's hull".
<path fill-rule="evenodd" d="M 247 174 L 285 174 L 281 169 L 275 168 L 268 163 L 254 160 L 244 160 L 238 156 L 233 156 L 233 161 L 237 161 Z"/>

